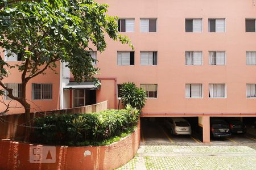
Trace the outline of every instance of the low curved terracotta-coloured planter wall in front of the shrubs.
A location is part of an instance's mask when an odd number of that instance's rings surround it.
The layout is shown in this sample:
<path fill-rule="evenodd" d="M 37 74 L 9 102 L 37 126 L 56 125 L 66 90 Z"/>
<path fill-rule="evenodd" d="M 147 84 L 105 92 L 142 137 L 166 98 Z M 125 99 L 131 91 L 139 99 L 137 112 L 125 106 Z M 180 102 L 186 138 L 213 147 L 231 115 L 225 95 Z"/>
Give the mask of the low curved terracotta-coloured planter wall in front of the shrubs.
<path fill-rule="evenodd" d="M 39 151 L 45 151 L 46 146 L 2 140 L 0 169 L 115 169 L 129 162 L 136 154 L 141 139 L 140 130 L 138 124 L 133 134 L 108 146 L 56 146 L 55 163 L 30 163 L 30 150 L 37 146 Z"/>

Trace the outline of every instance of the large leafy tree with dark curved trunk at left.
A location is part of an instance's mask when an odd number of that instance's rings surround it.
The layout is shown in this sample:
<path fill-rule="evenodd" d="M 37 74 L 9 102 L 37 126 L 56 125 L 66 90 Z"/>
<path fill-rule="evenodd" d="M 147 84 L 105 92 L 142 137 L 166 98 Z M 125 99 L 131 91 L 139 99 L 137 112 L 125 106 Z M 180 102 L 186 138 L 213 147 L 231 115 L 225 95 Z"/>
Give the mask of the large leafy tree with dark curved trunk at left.
<path fill-rule="evenodd" d="M 93 0 L 0 0 L 0 48 L 22 54 L 23 60 L 10 66 L 0 59 L 0 86 L 24 107 L 28 126 L 31 107 L 26 101 L 26 85 L 32 78 L 47 69 L 54 71 L 57 62 L 67 62 L 76 81 L 98 82 L 90 43 L 102 52 L 107 35 L 133 48 L 126 36 L 118 34 L 118 18 L 105 14 L 107 7 Z M 2 82 L 14 67 L 22 74 L 20 97 Z M 29 131 L 26 128 L 26 138 Z"/>

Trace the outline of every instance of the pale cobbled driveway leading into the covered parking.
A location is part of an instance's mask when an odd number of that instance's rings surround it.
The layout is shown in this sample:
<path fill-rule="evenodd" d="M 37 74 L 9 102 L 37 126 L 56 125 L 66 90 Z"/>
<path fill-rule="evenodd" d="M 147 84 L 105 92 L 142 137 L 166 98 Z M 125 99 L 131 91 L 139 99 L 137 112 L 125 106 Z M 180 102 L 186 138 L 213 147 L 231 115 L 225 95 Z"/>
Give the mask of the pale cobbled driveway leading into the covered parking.
<path fill-rule="evenodd" d="M 256 139 L 236 136 L 201 143 L 196 137 L 170 136 L 161 124 L 142 124 L 137 155 L 119 169 L 256 169 Z"/>

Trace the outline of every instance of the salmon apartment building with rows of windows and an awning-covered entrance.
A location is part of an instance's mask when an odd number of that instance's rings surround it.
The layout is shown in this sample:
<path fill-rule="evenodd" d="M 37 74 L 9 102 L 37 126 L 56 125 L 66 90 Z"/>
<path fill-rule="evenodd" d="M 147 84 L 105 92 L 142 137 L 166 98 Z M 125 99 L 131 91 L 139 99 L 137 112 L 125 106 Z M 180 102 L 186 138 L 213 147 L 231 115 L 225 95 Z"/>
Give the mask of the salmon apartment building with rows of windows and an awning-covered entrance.
<path fill-rule="evenodd" d="M 120 84 L 134 82 L 147 91 L 143 117 L 199 117 L 205 142 L 211 116 L 256 116 L 254 1 L 98 2 L 108 3 L 108 14 L 120 18 L 118 31 L 135 49 L 107 39 L 105 52 L 92 52 L 99 89 L 72 82 L 65 63 L 59 63 L 58 75 L 31 80 L 27 96 L 33 105 L 48 110 L 109 100 L 109 107 L 117 108 Z M 6 83 L 18 83 L 15 76 Z"/>

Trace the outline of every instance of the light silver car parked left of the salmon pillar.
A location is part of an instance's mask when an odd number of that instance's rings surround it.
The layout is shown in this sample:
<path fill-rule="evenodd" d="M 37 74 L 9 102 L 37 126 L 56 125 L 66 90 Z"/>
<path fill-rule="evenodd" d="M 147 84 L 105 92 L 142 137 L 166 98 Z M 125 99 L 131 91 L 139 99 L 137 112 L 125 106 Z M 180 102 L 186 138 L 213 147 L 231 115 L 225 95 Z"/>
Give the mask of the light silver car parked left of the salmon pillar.
<path fill-rule="evenodd" d="M 164 120 L 164 126 L 170 130 L 171 134 L 191 135 L 191 125 L 182 117 L 171 117 Z"/>

